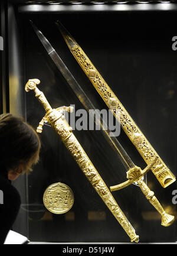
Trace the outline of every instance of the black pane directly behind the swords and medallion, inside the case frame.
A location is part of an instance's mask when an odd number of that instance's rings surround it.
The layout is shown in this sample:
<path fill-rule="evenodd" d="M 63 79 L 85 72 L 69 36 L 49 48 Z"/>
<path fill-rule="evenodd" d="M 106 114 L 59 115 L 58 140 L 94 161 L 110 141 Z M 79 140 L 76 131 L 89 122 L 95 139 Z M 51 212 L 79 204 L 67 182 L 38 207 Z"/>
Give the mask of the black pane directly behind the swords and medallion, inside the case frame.
<path fill-rule="evenodd" d="M 149 18 L 150 17 L 150 18 Z M 34 33 L 30 22 L 48 38 L 70 72 L 80 83 L 97 109 L 107 109 L 96 90 L 74 59 L 55 20 L 60 19 L 87 56 L 97 67 L 110 88 L 139 125 L 162 160 L 176 176 L 176 54 L 172 51 L 175 34 L 174 14 L 156 13 L 91 13 L 41 14 L 21 17 L 24 37 L 24 65 L 26 81 L 41 80 L 38 88 L 53 108 L 75 105 L 80 101 L 55 67 Z M 159 27 L 163 21 L 169 29 Z M 139 27 L 139 22 L 144 24 Z M 163 33 L 162 33 L 163 32 Z M 44 109 L 27 94 L 27 120 L 34 127 L 45 115 Z M 100 131 L 74 130 L 78 141 L 99 171 L 108 187 L 126 180 L 126 169 Z M 53 129 L 44 125 L 40 162 L 28 176 L 29 238 L 45 242 L 129 242 L 129 237 L 109 209 L 97 195 L 73 157 Z M 121 130 L 117 137 L 133 162 L 145 168 L 136 148 Z M 176 183 L 163 189 L 152 171 L 147 174 L 148 186 L 163 208 L 173 215 L 176 205 L 172 192 Z M 74 205 L 63 215 L 49 212 L 42 197 L 52 183 L 62 182 L 71 187 Z M 136 229 L 140 242 L 176 241 L 176 223 L 160 225 L 159 213 L 143 195 L 138 186 L 131 185 L 112 195 Z"/>

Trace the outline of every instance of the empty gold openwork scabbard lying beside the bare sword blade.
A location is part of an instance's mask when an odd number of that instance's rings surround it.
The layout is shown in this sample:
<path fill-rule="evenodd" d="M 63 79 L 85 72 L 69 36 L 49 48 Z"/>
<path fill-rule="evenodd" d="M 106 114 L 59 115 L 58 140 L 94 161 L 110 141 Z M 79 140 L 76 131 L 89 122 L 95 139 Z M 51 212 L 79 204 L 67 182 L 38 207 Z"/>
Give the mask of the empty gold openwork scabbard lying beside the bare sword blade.
<path fill-rule="evenodd" d="M 87 77 L 89 77 L 91 83 L 100 94 L 103 101 L 110 109 L 112 109 L 115 117 L 119 111 L 121 127 L 123 128 L 124 132 L 126 132 L 126 135 L 129 137 L 130 141 L 132 141 L 132 143 L 135 145 L 140 155 L 142 155 L 145 162 L 150 165 L 153 157 L 158 157 L 156 163 L 151 167 L 151 170 L 162 187 L 165 188 L 171 183 L 175 182 L 176 179 L 171 170 L 169 170 L 166 164 L 163 163 L 158 153 L 156 153 L 155 149 L 152 147 L 152 145 L 150 145 L 145 135 L 143 135 L 142 131 L 140 131 L 139 127 L 137 127 L 135 121 L 133 121 L 122 103 L 119 101 L 119 99 L 117 99 L 116 95 L 114 95 L 101 74 L 97 71 L 96 67 L 94 67 L 93 63 L 91 63 L 90 59 L 77 44 L 76 40 L 74 40 L 74 38 L 70 35 L 70 33 L 68 33 L 60 22 L 57 21 L 56 24 L 60 29 L 71 53 L 77 60 L 78 64 L 80 64 L 84 73 L 86 73 Z"/>

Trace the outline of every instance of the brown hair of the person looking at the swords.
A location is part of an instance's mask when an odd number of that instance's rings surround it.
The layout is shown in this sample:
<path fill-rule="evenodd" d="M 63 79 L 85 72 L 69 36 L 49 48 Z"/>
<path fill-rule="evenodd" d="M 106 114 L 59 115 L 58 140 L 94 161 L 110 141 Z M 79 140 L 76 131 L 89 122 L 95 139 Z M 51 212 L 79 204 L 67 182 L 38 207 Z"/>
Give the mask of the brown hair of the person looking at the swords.
<path fill-rule="evenodd" d="M 0 115 L 0 163 L 15 170 L 22 164 L 24 172 L 37 163 L 41 148 L 34 128 L 19 116 Z"/>

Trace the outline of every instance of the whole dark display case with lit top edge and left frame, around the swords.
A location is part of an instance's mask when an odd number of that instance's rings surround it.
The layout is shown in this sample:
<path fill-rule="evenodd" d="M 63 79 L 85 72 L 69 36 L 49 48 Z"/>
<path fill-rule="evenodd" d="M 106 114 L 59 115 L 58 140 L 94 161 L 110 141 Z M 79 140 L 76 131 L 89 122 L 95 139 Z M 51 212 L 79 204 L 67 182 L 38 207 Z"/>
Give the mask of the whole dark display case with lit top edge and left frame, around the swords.
<path fill-rule="evenodd" d="M 28 79 L 40 79 L 38 89 L 52 108 L 74 106 L 76 122 L 81 116 L 77 111 L 84 109 L 30 21 L 54 47 L 95 108 L 108 109 L 71 54 L 55 24 L 59 20 L 176 177 L 176 11 L 177 3 L 167 1 L 1 1 L 1 112 L 21 115 L 38 127 L 45 111 L 34 93 L 25 92 Z M 76 128 L 73 134 L 108 188 L 127 179 L 126 168 L 100 129 Z M 22 200 L 13 230 L 31 242 L 129 243 L 129 236 L 51 125 L 44 124 L 39 136 L 40 161 L 31 174 L 13 182 Z M 147 164 L 122 128 L 117 140 L 143 170 Z M 64 214 L 54 214 L 44 206 L 44 191 L 56 182 L 67 184 L 74 194 L 73 207 Z M 176 182 L 164 188 L 151 170 L 144 182 L 163 209 L 176 217 Z M 162 226 L 160 214 L 139 184 L 112 195 L 139 235 L 139 243 L 176 242 L 176 221 Z"/>

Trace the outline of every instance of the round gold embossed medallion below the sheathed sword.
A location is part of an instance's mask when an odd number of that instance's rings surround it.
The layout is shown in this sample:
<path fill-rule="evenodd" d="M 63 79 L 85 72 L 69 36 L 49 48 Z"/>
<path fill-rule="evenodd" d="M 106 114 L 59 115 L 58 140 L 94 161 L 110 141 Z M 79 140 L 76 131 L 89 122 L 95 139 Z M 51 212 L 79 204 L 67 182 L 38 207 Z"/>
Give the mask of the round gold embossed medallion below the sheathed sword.
<path fill-rule="evenodd" d="M 74 203 L 73 191 L 64 183 L 53 183 L 45 189 L 43 202 L 52 213 L 68 212 Z"/>

